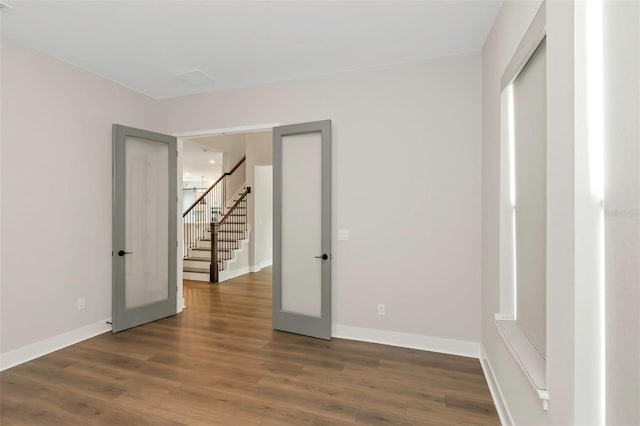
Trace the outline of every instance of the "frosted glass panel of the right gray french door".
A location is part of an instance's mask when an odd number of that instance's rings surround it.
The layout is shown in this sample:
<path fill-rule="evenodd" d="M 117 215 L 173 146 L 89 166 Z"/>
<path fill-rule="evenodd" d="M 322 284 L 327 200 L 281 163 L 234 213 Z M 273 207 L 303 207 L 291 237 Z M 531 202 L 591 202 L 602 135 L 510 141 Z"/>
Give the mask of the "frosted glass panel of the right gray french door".
<path fill-rule="evenodd" d="M 282 138 L 282 310 L 322 310 L 320 132 Z"/>

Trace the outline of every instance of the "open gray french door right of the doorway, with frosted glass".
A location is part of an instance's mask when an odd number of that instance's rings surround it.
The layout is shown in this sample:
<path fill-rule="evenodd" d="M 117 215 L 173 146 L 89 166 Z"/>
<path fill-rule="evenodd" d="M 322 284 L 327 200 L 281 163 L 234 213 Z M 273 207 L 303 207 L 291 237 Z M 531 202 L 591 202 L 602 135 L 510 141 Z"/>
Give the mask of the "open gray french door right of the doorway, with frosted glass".
<path fill-rule="evenodd" d="M 273 129 L 273 328 L 331 339 L 331 120 Z"/>

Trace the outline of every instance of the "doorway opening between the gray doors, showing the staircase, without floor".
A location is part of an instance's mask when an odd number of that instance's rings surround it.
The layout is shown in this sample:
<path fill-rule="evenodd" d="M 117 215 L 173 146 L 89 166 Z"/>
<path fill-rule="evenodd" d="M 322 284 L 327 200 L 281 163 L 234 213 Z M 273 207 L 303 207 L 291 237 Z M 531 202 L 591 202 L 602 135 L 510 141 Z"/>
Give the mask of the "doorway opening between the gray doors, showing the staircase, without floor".
<path fill-rule="evenodd" d="M 215 272 L 215 282 L 225 282 L 271 266 L 275 126 L 175 135 L 182 209 L 178 312 L 184 308 L 184 280 L 212 282 Z"/>

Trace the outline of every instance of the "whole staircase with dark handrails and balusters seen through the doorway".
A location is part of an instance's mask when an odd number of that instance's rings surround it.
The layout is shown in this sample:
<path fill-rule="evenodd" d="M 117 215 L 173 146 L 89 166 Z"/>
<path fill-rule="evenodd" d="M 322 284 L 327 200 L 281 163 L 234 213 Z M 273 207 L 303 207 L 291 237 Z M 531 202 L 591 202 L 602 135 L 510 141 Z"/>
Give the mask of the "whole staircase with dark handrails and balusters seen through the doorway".
<path fill-rule="evenodd" d="M 242 185 L 224 201 L 229 177 L 244 161 L 225 173 L 184 212 L 184 279 L 223 281 L 238 256 L 243 252 L 248 255 L 247 196 L 251 188 Z"/>

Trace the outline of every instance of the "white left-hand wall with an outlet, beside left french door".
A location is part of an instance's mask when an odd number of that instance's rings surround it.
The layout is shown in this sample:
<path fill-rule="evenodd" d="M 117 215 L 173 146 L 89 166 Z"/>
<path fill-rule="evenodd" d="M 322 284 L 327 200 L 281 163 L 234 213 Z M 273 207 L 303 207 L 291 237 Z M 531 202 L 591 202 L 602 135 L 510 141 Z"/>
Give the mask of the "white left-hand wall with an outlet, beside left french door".
<path fill-rule="evenodd" d="M 111 126 L 164 129 L 153 100 L 7 39 L 1 102 L 4 359 L 111 316 Z"/>

